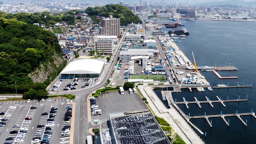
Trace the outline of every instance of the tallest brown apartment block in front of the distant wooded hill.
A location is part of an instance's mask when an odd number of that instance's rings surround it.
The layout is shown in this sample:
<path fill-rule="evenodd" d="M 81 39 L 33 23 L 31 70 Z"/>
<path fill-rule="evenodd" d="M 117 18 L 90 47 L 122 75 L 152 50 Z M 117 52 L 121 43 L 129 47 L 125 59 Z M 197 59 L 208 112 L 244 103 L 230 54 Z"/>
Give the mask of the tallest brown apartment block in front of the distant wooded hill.
<path fill-rule="evenodd" d="M 102 19 L 102 28 L 100 35 L 103 36 L 120 36 L 120 18 L 112 18 L 111 15 Z"/>

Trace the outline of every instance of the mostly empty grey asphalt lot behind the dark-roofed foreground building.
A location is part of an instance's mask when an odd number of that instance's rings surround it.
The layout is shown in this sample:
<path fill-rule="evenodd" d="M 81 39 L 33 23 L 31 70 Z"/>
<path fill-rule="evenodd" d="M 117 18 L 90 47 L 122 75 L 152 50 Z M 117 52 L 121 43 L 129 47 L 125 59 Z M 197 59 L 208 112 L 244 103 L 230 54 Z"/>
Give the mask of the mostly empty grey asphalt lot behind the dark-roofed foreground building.
<path fill-rule="evenodd" d="M 96 101 L 98 109 L 102 110 L 102 114 L 92 116 L 92 121 L 108 120 L 110 113 L 148 109 L 138 93 L 129 94 L 129 92 L 126 90 L 124 91 L 123 95 L 121 95 L 118 91 L 104 92 L 103 96 L 101 95 L 96 98 Z"/>

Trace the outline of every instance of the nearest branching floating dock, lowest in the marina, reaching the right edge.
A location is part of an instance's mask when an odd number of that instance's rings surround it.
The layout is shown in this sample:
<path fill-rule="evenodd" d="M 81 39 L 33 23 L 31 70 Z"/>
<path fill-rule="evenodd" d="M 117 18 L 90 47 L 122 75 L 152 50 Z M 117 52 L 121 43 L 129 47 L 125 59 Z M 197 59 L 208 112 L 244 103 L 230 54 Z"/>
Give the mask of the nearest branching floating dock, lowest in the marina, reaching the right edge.
<path fill-rule="evenodd" d="M 254 112 L 247 112 L 247 113 L 237 113 L 237 114 L 216 114 L 216 115 L 204 115 L 204 116 L 187 116 L 187 119 L 189 120 L 190 118 L 205 118 L 206 121 L 208 122 L 209 126 L 212 127 L 212 124 L 210 123 L 208 118 L 216 118 L 216 117 L 221 117 L 224 122 L 226 123 L 227 126 L 229 126 L 229 123 L 226 121 L 226 119 L 224 118 L 225 116 L 236 116 L 238 117 L 241 122 L 247 126 L 246 122 L 244 122 L 244 120 L 242 120 L 242 118 L 240 116 L 246 116 L 246 115 L 251 115 L 254 118 L 256 118 L 255 113 Z"/>

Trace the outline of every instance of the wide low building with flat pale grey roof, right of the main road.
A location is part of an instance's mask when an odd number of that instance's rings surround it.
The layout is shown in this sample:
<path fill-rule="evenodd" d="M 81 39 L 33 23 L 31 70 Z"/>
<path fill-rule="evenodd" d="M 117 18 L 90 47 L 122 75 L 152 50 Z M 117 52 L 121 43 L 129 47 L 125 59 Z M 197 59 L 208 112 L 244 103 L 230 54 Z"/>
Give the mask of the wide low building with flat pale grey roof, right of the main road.
<path fill-rule="evenodd" d="M 127 51 L 120 51 L 120 60 L 131 60 L 134 56 L 151 56 L 158 54 L 158 50 L 154 49 L 128 49 Z"/>

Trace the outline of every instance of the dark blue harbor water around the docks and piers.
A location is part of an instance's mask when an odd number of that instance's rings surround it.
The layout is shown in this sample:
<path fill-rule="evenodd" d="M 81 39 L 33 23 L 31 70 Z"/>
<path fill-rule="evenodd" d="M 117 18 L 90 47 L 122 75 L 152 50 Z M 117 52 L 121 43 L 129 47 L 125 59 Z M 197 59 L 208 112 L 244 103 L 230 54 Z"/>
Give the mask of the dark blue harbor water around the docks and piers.
<path fill-rule="evenodd" d="M 167 19 L 166 19 L 167 20 Z M 162 19 L 158 19 L 159 22 Z M 194 62 L 191 50 L 194 52 L 197 66 L 235 66 L 238 71 L 218 71 L 221 76 L 237 76 L 237 79 L 219 79 L 212 71 L 201 71 L 206 80 L 212 85 L 226 84 L 230 86 L 236 85 L 250 85 L 252 88 L 214 88 L 213 91 L 198 92 L 192 89 L 182 89 L 182 92 L 172 93 L 173 98 L 177 102 L 182 102 L 182 97 L 186 101 L 195 101 L 194 97 L 200 101 L 205 101 L 207 96 L 210 100 L 217 100 L 216 96 L 221 97 L 222 100 L 246 99 L 243 102 L 224 102 L 226 107 L 220 103 L 201 104 L 199 108 L 197 104 L 188 104 L 187 109 L 184 104 L 179 104 L 180 109 L 190 116 L 202 116 L 204 112 L 206 115 L 213 114 L 235 114 L 251 112 L 251 109 L 256 112 L 256 23 L 248 21 L 215 21 L 215 20 L 180 20 L 185 26 L 179 28 L 186 28 L 190 33 L 182 42 L 176 43 L 180 50 Z M 168 22 L 166 22 L 168 23 Z M 169 30 L 170 28 L 163 28 Z M 156 94 L 161 98 L 161 90 L 155 90 Z M 256 119 L 252 116 L 241 116 L 246 122 L 244 124 L 236 117 L 225 117 L 230 120 L 230 126 L 227 126 L 222 118 L 209 118 L 212 121 L 212 127 L 204 119 L 190 119 L 190 121 L 197 126 L 202 132 L 206 132 L 206 136 L 199 134 L 200 138 L 206 144 L 254 144 L 256 143 Z"/>

